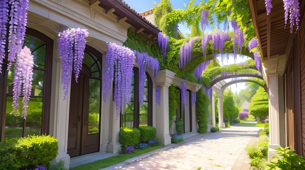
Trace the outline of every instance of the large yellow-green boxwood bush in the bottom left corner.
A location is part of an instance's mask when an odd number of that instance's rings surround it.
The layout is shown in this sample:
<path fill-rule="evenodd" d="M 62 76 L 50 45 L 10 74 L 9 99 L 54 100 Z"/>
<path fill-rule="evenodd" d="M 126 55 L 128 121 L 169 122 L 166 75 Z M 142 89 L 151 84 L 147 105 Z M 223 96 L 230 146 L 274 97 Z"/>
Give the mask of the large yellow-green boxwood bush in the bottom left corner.
<path fill-rule="evenodd" d="M 30 170 L 48 167 L 58 154 L 57 139 L 50 135 L 6 139 L 0 143 L 1 170 Z"/>

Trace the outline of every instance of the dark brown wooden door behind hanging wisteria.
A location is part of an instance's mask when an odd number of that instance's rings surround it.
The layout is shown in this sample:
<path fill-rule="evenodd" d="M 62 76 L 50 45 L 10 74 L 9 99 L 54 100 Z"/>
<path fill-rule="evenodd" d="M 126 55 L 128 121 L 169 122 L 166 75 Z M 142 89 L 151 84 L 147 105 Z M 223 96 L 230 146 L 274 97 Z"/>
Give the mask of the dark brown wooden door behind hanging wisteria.
<path fill-rule="evenodd" d="M 88 131 L 90 105 L 89 75 L 89 68 L 83 66 L 78 77 L 78 83 L 73 79 L 71 81 L 68 131 L 68 154 L 71 157 L 99 150 L 99 130 L 96 133 Z"/>

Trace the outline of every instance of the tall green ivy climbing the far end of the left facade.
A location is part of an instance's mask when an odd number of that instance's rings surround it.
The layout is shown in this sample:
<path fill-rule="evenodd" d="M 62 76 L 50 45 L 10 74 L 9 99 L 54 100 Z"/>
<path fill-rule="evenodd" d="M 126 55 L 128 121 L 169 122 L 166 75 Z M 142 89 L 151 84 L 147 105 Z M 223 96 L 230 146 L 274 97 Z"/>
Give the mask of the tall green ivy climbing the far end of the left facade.
<path fill-rule="evenodd" d="M 200 88 L 196 94 L 196 118 L 198 123 L 198 133 L 206 133 L 208 128 L 208 112 L 207 107 L 210 100 L 203 88 Z"/>

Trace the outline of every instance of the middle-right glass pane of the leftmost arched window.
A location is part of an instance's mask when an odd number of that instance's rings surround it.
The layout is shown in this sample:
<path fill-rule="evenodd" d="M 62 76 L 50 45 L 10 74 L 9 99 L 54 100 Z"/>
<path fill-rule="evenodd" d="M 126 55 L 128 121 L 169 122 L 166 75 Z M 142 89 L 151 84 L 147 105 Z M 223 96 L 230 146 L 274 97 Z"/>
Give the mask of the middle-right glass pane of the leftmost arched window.
<path fill-rule="evenodd" d="M 43 80 L 44 80 L 44 71 L 34 69 L 33 82 L 32 82 L 32 94 L 34 96 L 43 96 Z"/>

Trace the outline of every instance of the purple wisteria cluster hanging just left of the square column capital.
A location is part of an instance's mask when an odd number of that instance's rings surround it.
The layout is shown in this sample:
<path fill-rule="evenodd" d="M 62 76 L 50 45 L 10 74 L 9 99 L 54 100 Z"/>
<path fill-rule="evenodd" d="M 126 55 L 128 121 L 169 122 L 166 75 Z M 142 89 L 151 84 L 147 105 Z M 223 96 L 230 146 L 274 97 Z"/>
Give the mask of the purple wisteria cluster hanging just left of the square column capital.
<path fill-rule="evenodd" d="M 142 106 L 144 100 L 144 87 L 145 87 L 145 73 L 150 68 L 152 69 L 152 80 L 155 82 L 156 77 L 159 75 L 159 61 L 150 57 L 147 53 L 135 52 L 137 62 L 139 65 L 139 105 Z"/>

